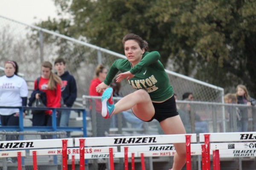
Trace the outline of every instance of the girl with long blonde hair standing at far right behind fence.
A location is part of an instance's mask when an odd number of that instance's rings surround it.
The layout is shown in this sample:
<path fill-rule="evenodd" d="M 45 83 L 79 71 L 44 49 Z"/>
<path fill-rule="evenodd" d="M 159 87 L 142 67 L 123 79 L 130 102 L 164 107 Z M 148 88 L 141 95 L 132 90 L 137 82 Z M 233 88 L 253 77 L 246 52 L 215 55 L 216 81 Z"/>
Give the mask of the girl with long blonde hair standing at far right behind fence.
<path fill-rule="evenodd" d="M 251 98 L 248 94 L 247 88 L 239 84 L 236 87 L 237 104 L 246 104 L 247 106 L 254 106 L 255 99 Z M 248 131 L 248 107 L 239 107 L 241 111 L 241 128 L 239 132 Z"/>

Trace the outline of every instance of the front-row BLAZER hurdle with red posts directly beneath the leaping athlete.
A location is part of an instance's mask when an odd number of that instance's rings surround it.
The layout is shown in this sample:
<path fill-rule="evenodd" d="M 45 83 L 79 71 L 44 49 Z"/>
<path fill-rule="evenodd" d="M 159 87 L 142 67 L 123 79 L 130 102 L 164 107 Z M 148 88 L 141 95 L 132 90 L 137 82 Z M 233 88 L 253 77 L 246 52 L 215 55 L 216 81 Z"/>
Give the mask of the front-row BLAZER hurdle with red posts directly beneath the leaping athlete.
<path fill-rule="evenodd" d="M 186 144 L 186 167 L 187 167 L 187 170 L 191 170 L 190 144 L 191 142 L 196 142 L 196 141 L 197 141 L 196 134 L 90 137 L 90 138 L 75 138 L 75 147 L 79 147 L 80 170 L 84 170 L 84 147 L 85 146 L 91 147 L 91 146 L 185 143 Z M 128 152 L 124 152 L 125 170 L 128 170 L 128 154 L 127 153 Z M 113 170 L 113 167 L 114 167 L 113 161 L 110 162 L 110 167 L 111 167 L 111 170 Z"/>

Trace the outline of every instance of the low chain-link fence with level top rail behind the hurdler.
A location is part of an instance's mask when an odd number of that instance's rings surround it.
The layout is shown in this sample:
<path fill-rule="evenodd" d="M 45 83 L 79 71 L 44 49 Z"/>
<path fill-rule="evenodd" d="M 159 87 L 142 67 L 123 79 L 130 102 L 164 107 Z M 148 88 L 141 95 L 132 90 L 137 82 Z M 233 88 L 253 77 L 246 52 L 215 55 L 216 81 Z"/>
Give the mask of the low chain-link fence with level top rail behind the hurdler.
<path fill-rule="evenodd" d="M 91 136 L 113 135 L 161 135 L 163 131 L 157 120 L 143 122 L 131 110 L 102 118 L 97 112 L 100 97 L 83 96 L 87 109 L 87 131 Z M 114 102 L 120 98 L 114 97 Z M 97 102 L 99 101 L 99 102 Z M 256 107 L 241 104 L 215 102 L 176 101 L 177 109 L 187 133 L 221 133 L 256 131 Z"/>

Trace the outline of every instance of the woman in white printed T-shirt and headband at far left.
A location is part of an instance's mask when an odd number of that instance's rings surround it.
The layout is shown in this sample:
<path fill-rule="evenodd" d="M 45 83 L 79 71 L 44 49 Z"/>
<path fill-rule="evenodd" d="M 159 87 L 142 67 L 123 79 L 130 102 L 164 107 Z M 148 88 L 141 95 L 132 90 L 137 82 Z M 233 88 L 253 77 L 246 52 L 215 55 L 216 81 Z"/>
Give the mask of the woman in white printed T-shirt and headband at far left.
<path fill-rule="evenodd" d="M 26 81 L 17 75 L 18 65 L 15 61 L 6 61 L 5 75 L 0 77 L 0 106 L 20 107 L 26 106 L 28 88 Z M 0 109 L 2 126 L 19 126 L 19 109 Z M 23 113 L 23 117 L 25 113 Z M 6 135 L 6 141 L 17 140 L 18 136 Z M 14 159 L 8 158 L 9 162 Z"/>

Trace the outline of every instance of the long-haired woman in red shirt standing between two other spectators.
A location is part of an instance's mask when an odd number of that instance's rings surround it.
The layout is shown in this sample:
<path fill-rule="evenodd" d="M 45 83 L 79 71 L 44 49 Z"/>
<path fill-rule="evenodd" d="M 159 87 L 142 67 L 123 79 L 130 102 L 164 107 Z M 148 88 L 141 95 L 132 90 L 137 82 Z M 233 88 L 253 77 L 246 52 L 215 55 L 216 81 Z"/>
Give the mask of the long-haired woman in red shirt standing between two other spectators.
<path fill-rule="evenodd" d="M 46 93 L 46 107 L 61 106 L 61 78 L 52 72 L 52 64 L 44 61 L 41 65 L 42 75 L 39 81 L 35 80 L 35 90 Z M 40 98 L 39 93 L 35 98 Z M 52 110 L 46 110 L 43 114 L 33 114 L 33 126 L 52 126 Z"/>

